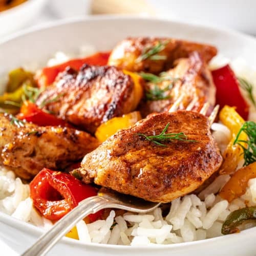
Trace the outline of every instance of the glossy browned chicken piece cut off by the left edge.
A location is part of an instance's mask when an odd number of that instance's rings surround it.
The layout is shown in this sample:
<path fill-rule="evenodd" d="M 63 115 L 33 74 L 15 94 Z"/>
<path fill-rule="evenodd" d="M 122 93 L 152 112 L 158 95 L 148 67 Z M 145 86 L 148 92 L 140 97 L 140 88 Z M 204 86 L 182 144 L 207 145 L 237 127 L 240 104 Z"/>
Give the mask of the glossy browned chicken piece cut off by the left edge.
<path fill-rule="evenodd" d="M 86 132 L 24 123 L 8 114 L 0 114 L 0 127 L 0 161 L 24 179 L 44 167 L 65 168 L 99 145 Z"/>

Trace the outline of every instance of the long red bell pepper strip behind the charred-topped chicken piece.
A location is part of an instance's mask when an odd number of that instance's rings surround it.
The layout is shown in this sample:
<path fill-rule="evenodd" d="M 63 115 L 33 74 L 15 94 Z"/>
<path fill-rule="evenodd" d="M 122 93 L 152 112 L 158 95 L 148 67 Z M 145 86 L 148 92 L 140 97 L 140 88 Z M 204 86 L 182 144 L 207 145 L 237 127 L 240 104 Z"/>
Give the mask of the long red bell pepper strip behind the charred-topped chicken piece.
<path fill-rule="evenodd" d="M 38 86 L 49 86 L 54 82 L 58 73 L 64 71 L 67 67 L 79 70 L 84 63 L 89 65 L 104 66 L 108 63 L 109 56 L 110 52 L 98 52 L 86 58 L 71 59 L 53 67 L 45 67 L 37 74 Z"/>

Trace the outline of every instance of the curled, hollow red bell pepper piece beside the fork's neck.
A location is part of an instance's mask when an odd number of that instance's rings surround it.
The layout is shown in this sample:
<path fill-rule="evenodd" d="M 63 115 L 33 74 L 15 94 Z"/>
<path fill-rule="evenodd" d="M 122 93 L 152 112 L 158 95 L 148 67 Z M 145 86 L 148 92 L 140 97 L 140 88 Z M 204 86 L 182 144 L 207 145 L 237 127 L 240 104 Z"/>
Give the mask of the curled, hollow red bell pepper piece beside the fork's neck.
<path fill-rule="evenodd" d="M 35 208 L 48 220 L 59 220 L 80 201 L 97 195 L 95 187 L 74 176 L 44 168 L 30 183 L 30 197 Z M 102 211 L 89 215 L 91 222 L 101 218 Z"/>

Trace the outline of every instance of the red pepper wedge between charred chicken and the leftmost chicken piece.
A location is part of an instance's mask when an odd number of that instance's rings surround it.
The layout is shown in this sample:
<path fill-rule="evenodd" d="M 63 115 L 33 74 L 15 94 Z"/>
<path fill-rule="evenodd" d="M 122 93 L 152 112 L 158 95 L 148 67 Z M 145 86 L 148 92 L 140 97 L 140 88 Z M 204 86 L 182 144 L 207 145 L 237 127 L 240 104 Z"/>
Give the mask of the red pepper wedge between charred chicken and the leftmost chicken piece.
<path fill-rule="evenodd" d="M 66 121 L 57 118 L 54 115 L 46 113 L 38 108 L 38 106 L 31 101 L 25 101 L 20 108 L 20 113 L 17 115 L 18 119 L 32 122 L 39 126 L 67 126 L 72 127 Z"/>

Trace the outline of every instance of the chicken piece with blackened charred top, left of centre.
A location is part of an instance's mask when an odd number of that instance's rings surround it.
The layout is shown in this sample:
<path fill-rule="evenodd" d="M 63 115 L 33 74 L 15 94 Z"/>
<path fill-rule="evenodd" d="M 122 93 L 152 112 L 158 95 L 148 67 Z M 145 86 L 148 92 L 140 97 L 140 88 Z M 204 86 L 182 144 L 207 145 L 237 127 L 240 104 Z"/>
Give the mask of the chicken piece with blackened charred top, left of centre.
<path fill-rule="evenodd" d="M 84 65 L 79 72 L 68 68 L 60 73 L 36 104 L 94 133 L 102 122 L 136 109 L 142 92 L 139 98 L 135 94 L 133 78 L 117 68 Z"/>

